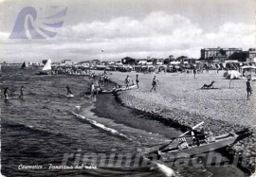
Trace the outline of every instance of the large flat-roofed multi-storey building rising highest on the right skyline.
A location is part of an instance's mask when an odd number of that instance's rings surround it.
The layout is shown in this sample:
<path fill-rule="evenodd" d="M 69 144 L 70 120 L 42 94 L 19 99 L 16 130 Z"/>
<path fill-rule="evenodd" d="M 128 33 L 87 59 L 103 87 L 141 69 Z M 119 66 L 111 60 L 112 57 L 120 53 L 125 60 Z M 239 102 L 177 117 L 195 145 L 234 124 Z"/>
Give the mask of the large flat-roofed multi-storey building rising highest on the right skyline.
<path fill-rule="evenodd" d="M 203 48 L 201 49 L 201 61 L 205 62 L 225 62 L 232 55 L 241 53 L 242 48 Z"/>

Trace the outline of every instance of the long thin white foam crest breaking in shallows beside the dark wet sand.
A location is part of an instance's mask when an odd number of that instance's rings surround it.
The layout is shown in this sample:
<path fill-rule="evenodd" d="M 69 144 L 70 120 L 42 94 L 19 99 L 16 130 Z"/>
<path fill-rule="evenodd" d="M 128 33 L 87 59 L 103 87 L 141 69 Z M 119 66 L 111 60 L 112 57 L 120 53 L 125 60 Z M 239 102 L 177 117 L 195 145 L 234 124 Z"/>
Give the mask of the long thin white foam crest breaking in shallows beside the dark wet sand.
<path fill-rule="evenodd" d="M 109 127 L 106 127 L 104 126 L 103 124 L 101 123 L 98 123 L 97 121 L 95 120 L 92 120 L 92 119 L 89 119 L 89 118 L 86 118 L 85 116 L 83 115 L 79 115 L 79 114 L 76 114 L 74 112 L 71 112 L 73 115 L 77 116 L 78 118 L 82 118 L 83 120 L 86 120 L 87 122 L 89 122 L 90 124 L 92 124 L 93 126 L 96 126 L 97 128 L 103 130 L 103 131 L 106 131 L 108 133 L 112 133 L 112 134 L 115 134 L 115 135 L 119 135 L 121 137 L 124 137 L 126 139 L 129 139 L 125 134 L 123 133 L 119 133 L 118 131 L 116 131 L 115 129 L 111 129 Z"/>

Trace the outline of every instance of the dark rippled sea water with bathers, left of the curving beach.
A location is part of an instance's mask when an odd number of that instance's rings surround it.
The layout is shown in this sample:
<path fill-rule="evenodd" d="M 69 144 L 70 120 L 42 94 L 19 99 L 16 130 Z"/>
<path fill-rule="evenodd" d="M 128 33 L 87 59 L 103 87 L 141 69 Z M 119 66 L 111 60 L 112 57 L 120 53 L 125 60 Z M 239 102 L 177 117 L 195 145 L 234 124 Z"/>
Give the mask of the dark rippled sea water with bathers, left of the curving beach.
<path fill-rule="evenodd" d="M 166 143 L 180 132 L 120 106 L 114 97 L 99 96 L 98 102 L 84 97 L 89 91 L 89 80 L 84 76 L 38 76 L 36 69 L 13 67 L 2 71 L 2 93 L 9 87 L 9 97 L 13 97 L 1 99 L 1 171 L 6 176 L 138 177 L 172 176 L 174 172 L 176 176 L 210 176 L 214 173 L 206 168 L 172 169 L 143 162 L 143 150 Z M 74 97 L 66 97 L 67 85 Z M 19 98 L 21 86 L 25 87 L 25 97 Z M 120 162 L 121 155 L 128 160 Z M 88 156 L 104 159 L 93 164 Z M 237 168 L 233 171 L 243 174 Z M 228 176 L 233 171 L 227 172 Z"/>

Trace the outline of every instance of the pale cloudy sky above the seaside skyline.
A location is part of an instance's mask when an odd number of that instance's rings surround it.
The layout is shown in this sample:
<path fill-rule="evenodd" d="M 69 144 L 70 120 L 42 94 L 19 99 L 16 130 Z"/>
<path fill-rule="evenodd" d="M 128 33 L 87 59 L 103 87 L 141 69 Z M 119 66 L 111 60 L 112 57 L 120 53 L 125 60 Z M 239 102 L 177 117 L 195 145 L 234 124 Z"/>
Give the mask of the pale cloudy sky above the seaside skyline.
<path fill-rule="evenodd" d="M 22 16 L 27 7 L 36 16 Z M 254 0 L 0 0 L 0 21 L 0 62 L 200 58 L 201 48 L 255 47 Z M 10 39 L 15 25 L 27 39 Z"/>

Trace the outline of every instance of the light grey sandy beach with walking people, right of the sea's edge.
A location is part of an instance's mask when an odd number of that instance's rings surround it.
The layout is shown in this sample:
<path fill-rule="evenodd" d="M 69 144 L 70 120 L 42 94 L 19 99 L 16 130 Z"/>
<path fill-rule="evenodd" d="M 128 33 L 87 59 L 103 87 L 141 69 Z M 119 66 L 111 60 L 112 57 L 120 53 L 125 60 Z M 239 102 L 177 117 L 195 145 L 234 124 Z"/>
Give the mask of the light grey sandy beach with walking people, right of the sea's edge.
<path fill-rule="evenodd" d="M 256 124 L 256 99 L 254 94 L 247 99 L 246 81 L 229 80 L 223 77 L 224 71 L 217 73 L 119 73 L 112 72 L 110 79 L 124 85 L 127 75 L 131 80 L 139 78 L 139 89 L 119 92 L 118 96 L 124 105 L 140 111 L 167 118 L 180 125 L 192 126 L 205 121 L 205 127 L 214 134 L 253 129 Z M 150 92 L 152 80 L 156 76 L 156 93 Z M 215 89 L 200 89 L 203 84 L 214 80 Z M 251 82 L 252 90 L 256 82 Z M 254 129 L 255 130 L 255 129 Z M 232 153 L 255 155 L 255 134 L 239 142 Z M 253 157 L 247 160 L 255 165 Z"/>

